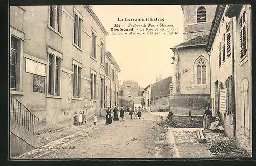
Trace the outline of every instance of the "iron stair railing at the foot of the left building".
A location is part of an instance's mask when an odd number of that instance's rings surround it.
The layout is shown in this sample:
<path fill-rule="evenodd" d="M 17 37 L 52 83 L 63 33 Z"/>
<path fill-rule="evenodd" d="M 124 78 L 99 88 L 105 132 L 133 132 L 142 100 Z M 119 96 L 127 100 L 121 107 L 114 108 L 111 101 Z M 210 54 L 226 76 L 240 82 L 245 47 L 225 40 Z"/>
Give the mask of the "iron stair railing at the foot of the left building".
<path fill-rule="evenodd" d="M 11 95 L 10 116 L 19 125 L 23 126 L 32 134 L 35 133 L 35 122 L 39 121 L 32 112 L 30 112 L 22 103 Z"/>

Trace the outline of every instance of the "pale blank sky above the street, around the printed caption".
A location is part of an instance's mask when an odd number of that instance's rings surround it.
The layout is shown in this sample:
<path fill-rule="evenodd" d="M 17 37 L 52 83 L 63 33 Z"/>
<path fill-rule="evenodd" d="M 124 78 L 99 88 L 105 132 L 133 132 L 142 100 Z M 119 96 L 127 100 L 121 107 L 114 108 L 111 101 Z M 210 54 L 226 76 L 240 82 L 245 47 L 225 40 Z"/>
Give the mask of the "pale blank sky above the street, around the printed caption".
<path fill-rule="evenodd" d="M 140 87 L 156 82 L 156 75 L 162 79 L 171 76 L 173 51 L 170 47 L 183 42 L 183 13 L 180 5 L 94 5 L 93 11 L 108 31 L 106 51 L 114 56 L 123 80 L 135 80 Z M 118 18 L 164 18 L 164 24 L 173 24 L 179 31 L 177 35 L 112 35 L 114 24 L 153 23 L 118 21 Z M 156 22 L 155 22 L 156 23 Z M 123 28 L 123 27 L 121 27 Z"/>

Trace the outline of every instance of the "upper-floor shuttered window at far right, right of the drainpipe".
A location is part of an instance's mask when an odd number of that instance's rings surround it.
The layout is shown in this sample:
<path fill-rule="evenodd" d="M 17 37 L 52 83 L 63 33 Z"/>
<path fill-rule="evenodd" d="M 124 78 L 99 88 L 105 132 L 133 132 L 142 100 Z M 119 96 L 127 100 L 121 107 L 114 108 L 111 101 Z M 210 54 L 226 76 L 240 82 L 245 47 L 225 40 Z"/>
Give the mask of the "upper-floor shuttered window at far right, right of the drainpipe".
<path fill-rule="evenodd" d="M 246 43 L 246 12 L 244 11 L 239 21 L 239 33 L 240 33 L 240 58 L 246 56 L 247 43 Z"/>

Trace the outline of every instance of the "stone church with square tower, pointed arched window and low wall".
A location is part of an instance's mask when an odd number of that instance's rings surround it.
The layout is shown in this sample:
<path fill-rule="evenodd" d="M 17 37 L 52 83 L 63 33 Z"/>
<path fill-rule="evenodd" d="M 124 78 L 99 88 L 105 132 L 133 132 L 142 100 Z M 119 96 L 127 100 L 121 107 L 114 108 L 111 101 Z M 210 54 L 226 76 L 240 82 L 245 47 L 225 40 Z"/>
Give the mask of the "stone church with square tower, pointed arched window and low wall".
<path fill-rule="evenodd" d="M 172 94 L 170 108 L 176 114 L 202 114 L 209 105 L 210 65 L 207 43 L 216 5 L 181 5 L 184 14 L 184 42 L 171 49 Z"/>

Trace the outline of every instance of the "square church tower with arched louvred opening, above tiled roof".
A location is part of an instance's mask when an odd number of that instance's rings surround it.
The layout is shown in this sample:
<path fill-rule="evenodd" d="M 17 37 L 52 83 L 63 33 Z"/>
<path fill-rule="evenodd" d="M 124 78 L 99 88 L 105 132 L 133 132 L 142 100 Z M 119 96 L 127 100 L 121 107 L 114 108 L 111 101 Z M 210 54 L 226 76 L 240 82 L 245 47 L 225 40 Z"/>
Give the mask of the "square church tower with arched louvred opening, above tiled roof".
<path fill-rule="evenodd" d="M 181 5 L 184 14 L 184 42 L 209 35 L 217 5 Z"/>

